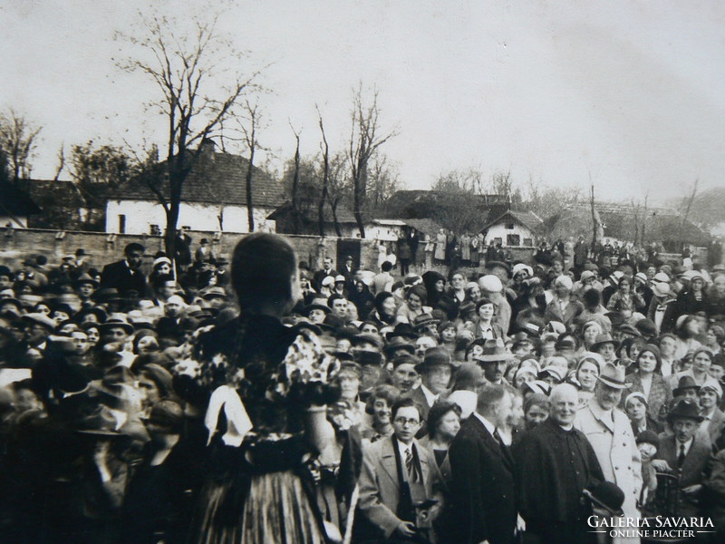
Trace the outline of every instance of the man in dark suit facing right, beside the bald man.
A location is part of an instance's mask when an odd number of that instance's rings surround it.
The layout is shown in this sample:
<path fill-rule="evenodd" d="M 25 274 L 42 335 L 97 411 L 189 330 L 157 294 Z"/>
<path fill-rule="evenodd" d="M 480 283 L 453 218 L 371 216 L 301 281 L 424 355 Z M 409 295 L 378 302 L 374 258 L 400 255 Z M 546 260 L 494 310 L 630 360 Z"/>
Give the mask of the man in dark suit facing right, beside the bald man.
<path fill-rule="evenodd" d="M 513 461 L 498 434 L 513 411 L 513 396 L 504 385 L 478 390 L 478 405 L 449 448 L 452 478 L 450 542 L 510 544 L 524 529 L 517 515 Z"/>

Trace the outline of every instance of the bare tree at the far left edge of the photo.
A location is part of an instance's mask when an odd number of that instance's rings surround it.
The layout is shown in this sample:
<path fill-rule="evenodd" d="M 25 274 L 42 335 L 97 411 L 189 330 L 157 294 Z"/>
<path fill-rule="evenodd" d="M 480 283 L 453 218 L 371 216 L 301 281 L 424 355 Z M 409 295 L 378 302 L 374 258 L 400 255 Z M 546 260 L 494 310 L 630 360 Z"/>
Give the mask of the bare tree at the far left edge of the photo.
<path fill-rule="evenodd" d="M 13 108 L 0 114 L 0 148 L 14 183 L 30 178 L 38 134 L 42 128 L 34 126 Z"/>

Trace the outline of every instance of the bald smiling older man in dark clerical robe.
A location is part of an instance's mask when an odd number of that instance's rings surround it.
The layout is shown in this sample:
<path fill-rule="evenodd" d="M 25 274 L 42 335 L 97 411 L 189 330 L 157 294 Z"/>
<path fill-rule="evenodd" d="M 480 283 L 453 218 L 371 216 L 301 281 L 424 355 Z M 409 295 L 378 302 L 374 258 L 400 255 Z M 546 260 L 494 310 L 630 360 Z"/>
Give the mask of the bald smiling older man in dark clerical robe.
<path fill-rule="evenodd" d="M 556 385 L 548 419 L 514 444 L 517 497 L 527 532 L 543 544 L 595 542 L 586 524 L 591 506 L 582 504 L 585 488 L 604 481 L 585 434 L 574 427 L 578 394 L 570 384 Z"/>

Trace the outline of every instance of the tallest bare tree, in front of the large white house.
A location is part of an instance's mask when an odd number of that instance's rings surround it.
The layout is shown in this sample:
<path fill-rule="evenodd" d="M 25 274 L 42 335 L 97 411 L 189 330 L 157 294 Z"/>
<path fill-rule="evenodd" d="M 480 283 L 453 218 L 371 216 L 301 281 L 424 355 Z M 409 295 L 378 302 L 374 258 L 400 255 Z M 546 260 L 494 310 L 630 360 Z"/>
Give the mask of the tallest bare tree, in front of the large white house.
<path fill-rule="evenodd" d="M 237 71 L 245 55 L 218 32 L 217 20 L 218 15 L 210 21 L 195 18 L 191 21 L 194 32 L 183 33 L 178 21 L 152 16 L 141 21 L 139 34 L 119 34 L 138 49 L 119 67 L 156 83 L 160 96 L 150 106 L 167 123 L 166 160 L 142 178 L 166 214 L 169 256 L 176 255 L 184 182 L 201 154 L 200 144 L 213 136 L 223 141 L 224 122 L 236 115 L 242 99 L 256 89 L 259 75 Z"/>

